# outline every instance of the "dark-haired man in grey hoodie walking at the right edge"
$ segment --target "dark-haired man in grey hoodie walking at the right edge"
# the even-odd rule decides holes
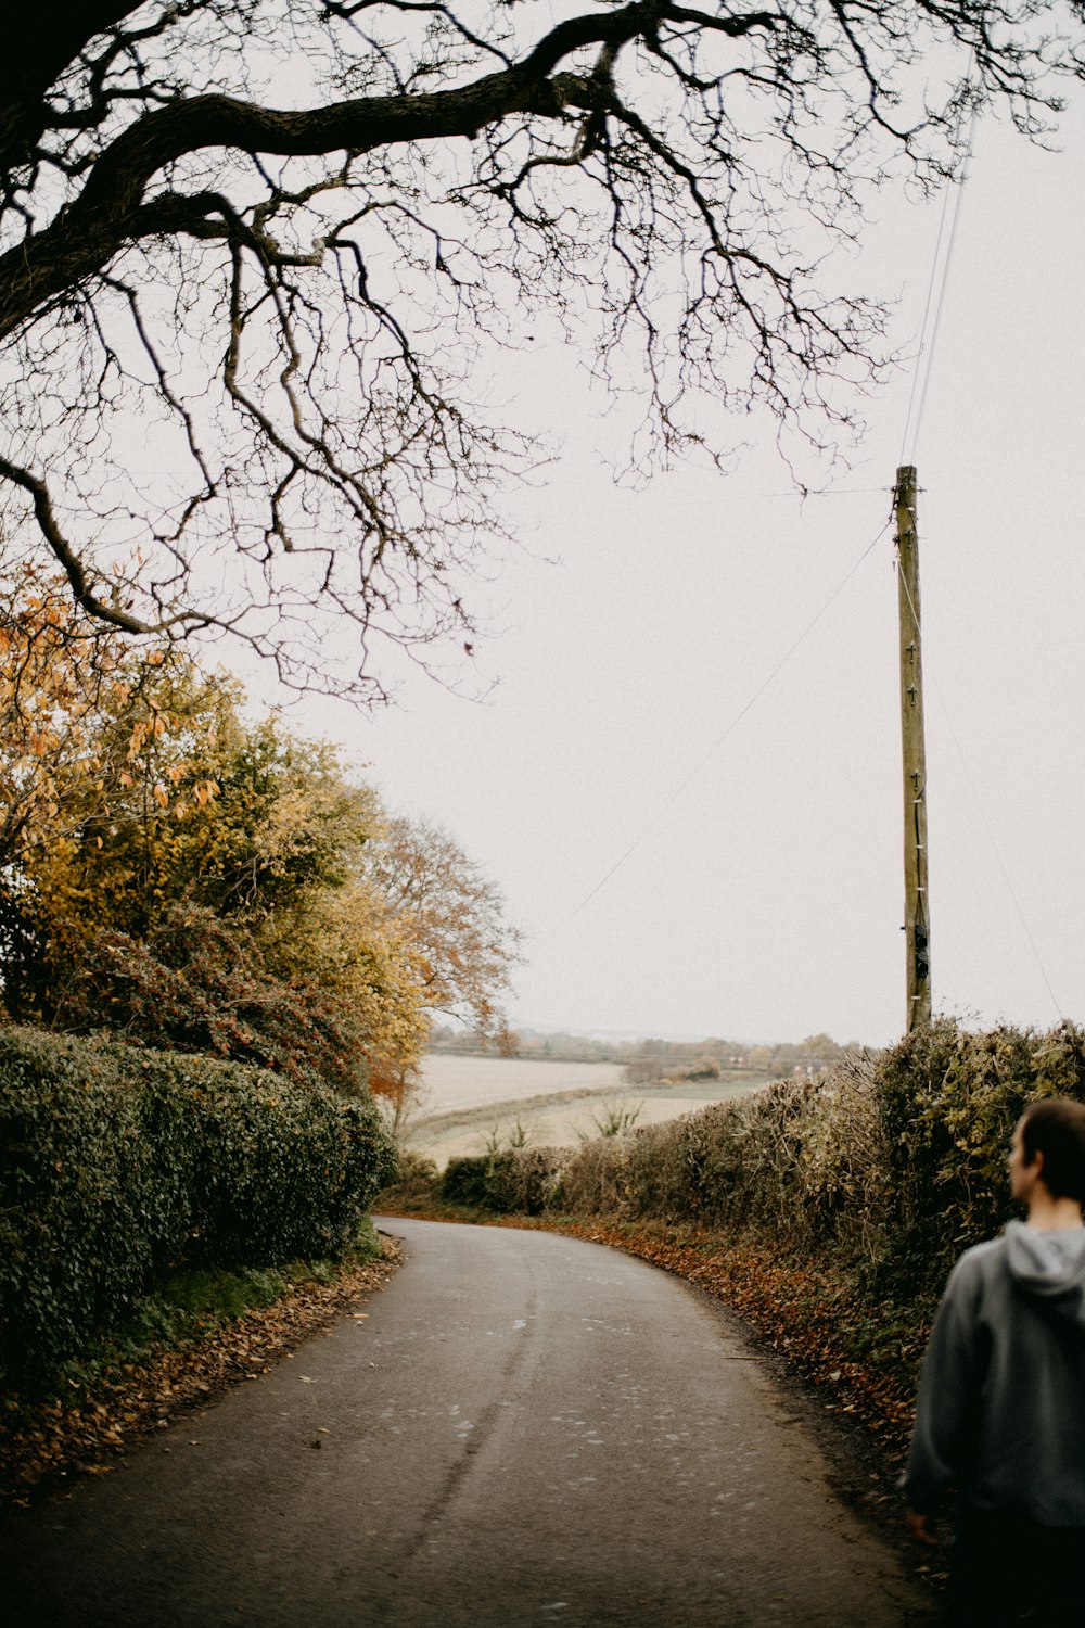
[[[922,1364],[909,1525],[958,1493],[953,1623],[1085,1623],[1085,1105],[1033,1102],[1010,1188],[1028,1219],[966,1250]]]

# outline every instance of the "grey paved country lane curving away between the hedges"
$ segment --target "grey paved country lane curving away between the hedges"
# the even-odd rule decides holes
[[[10,1628],[926,1620],[724,1309],[577,1239],[381,1224],[408,1258],[363,1315],[5,1522]]]

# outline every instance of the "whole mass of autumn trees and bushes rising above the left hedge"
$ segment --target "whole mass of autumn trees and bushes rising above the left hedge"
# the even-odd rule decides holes
[[[0,637],[8,1013],[210,1050],[402,1110],[428,1014],[486,1029],[516,934],[446,834],[335,749],[241,713],[177,648],[137,661],[24,581]]]

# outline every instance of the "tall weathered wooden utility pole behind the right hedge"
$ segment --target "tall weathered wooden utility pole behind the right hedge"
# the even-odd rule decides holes
[[[916,469],[896,470],[896,591],[901,630],[904,759],[904,941],[908,1032],[930,1022],[930,895],[927,892],[927,751],[922,729],[922,633]]]

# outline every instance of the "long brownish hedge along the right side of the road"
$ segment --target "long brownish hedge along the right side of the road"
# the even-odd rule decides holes
[[[537,1213],[512,1201],[522,1182],[551,1211],[695,1224],[843,1268],[870,1302],[927,1306],[961,1249],[1009,1218],[1013,1123],[1054,1092],[1085,1101],[1085,1031],[970,1034],[940,1019],[685,1118],[454,1161],[444,1197]]]

